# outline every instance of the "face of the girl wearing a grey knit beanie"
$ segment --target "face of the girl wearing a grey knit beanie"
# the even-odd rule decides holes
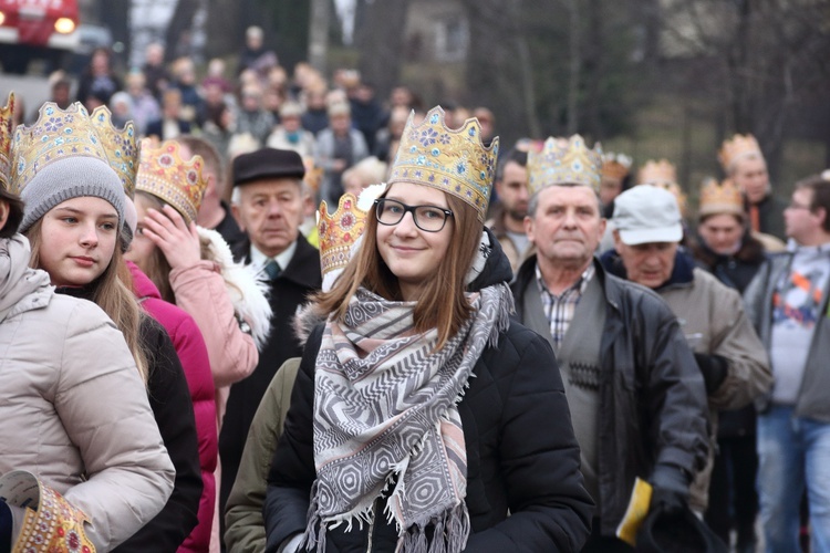
[[[118,213],[108,201],[83,196],[43,216],[40,268],[56,286],[84,286],[106,270],[118,239]]]

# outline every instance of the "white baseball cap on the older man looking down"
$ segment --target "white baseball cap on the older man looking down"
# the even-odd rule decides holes
[[[683,239],[677,200],[672,192],[656,186],[635,186],[618,196],[611,221],[620,232],[620,240],[627,246]]]

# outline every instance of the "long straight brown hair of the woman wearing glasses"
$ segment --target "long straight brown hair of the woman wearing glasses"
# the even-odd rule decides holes
[[[418,185],[423,186],[423,185]],[[384,194],[385,196],[385,194]],[[470,316],[471,307],[464,292],[465,276],[481,239],[481,222],[476,210],[464,200],[445,194],[453,217],[447,221],[453,237],[437,271],[424,283],[413,314],[415,330],[438,330],[440,348]],[[387,300],[401,301],[401,286],[377,249],[377,219],[374,207],[366,219],[363,244],[329,292],[314,296],[315,311],[342,321],[349,301],[361,285]]]

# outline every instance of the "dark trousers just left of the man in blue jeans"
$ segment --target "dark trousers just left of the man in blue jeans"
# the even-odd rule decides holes
[[[758,452],[755,435],[718,438],[718,455],[709,483],[709,508],[706,524],[729,543],[729,531],[738,533],[738,544],[755,541],[755,519],[758,515]]]

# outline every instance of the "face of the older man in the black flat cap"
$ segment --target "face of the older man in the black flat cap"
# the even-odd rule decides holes
[[[302,192],[295,178],[241,185],[234,215],[259,251],[272,258],[297,240],[302,221]]]

